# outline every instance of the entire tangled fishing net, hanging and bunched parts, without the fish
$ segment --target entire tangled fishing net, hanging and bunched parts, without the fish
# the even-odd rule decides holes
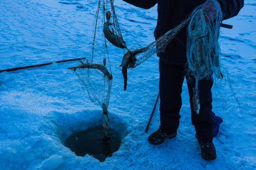
[[[216,7],[216,18],[207,22],[205,19],[205,4],[212,2]],[[110,60],[107,50],[107,41],[119,48],[128,50],[130,56],[127,59],[128,65],[122,66],[125,71],[127,68],[135,68],[150,56],[155,53],[165,52],[165,48],[171,42],[175,35],[186,25],[188,25],[188,39],[187,39],[187,71],[188,74],[195,77],[197,91],[198,81],[203,78],[212,78],[212,74],[221,77],[219,66],[219,26],[222,20],[222,14],[219,2],[216,0],[208,0],[195,8],[192,14],[187,17],[182,23],[174,29],[165,33],[165,35],[158,38],[155,42],[148,46],[136,49],[135,51],[128,50],[126,43],[123,40],[117,16],[115,13],[113,0],[99,0],[98,7],[94,19],[93,40],[91,45],[91,56],[83,63],[98,63],[104,65],[111,75]],[[108,43],[109,43],[108,42]],[[110,43],[108,45],[111,45]],[[124,56],[124,58],[125,58]],[[82,88],[86,89],[92,102],[97,101],[103,112],[107,112],[110,100],[110,90],[112,78],[106,76],[98,69],[77,68],[74,69],[76,75],[79,77]],[[127,72],[123,72],[124,78]],[[112,76],[111,76],[112,77]],[[127,77],[126,77],[127,79]]]

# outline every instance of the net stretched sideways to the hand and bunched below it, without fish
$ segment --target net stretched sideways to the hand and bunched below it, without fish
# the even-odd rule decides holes
[[[180,25],[175,26],[169,30],[165,35],[159,37],[155,42],[150,43],[148,46],[136,50],[136,63],[132,68],[143,63],[146,59],[155,53],[165,52],[165,48],[171,42],[175,35],[186,25],[188,26],[188,41],[187,41],[187,58],[188,69],[190,74],[195,75],[198,79],[211,75],[216,72],[218,77],[221,77],[219,69],[219,26],[222,20],[222,13],[219,2],[216,0],[208,0],[214,2],[217,14],[216,19],[212,22],[206,22],[204,19],[205,11],[203,5],[196,7],[191,15],[184,19]],[[196,35],[197,34],[197,35]],[[203,36],[203,34],[205,36]],[[196,37],[196,36],[200,37]],[[145,50],[146,49],[146,50]],[[203,58],[196,58],[194,56],[204,56]],[[216,67],[217,69],[215,69]],[[207,72],[205,72],[207,70]],[[210,70],[210,72],[209,72]],[[210,73],[210,74],[209,74]]]

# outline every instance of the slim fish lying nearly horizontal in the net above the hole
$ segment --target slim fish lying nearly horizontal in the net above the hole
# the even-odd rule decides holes
[[[82,61],[81,61],[82,62]],[[98,69],[100,70],[104,75],[108,76],[108,78],[111,80],[113,78],[113,76],[109,73],[108,69],[100,64],[100,63],[83,63],[79,66],[75,66],[75,67],[72,67],[72,68],[68,68],[68,69],[71,69],[75,72],[75,70],[77,68],[94,68],[94,69]]]

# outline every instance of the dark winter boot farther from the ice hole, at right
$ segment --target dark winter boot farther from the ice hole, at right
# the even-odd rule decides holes
[[[201,155],[202,158],[205,160],[215,160],[217,155],[216,155],[216,150],[214,147],[214,144],[212,140],[205,140],[205,139],[198,139],[198,143],[201,146]]]

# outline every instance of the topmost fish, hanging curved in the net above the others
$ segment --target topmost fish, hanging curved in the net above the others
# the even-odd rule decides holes
[[[127,48],[126,42],[123,40],[123,38],[116,35],[113,30],[112,31],[110,30],[109,26],[113,25],[112,23],[110,23],[110,16],[111,16],[111,13],[110,13],[110,11],[108,11],[106,13],[107,21],[104,23],[104,26],[103,26],[103,33],[104,33],[105,37],[114,46],[122,48],[122,49]]]

